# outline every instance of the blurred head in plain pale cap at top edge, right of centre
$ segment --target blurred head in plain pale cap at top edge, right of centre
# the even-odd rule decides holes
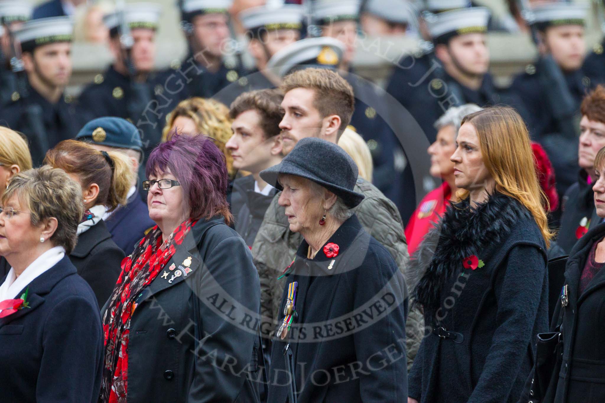
[[[404,35],[415,18],[409,0],[368,0],[361,10],[360,22],[370,36]]]

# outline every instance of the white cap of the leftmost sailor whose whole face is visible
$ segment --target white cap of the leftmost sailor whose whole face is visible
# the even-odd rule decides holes
[[[15,39],[21,43],[23,51],[54,42],[71,42],[73,22],[68,16],[32,19],[15,30]]]

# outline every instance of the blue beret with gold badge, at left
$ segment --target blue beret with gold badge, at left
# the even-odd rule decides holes
[[[143,152],[139,129],[128,120],[117,117],[91,120],[82,127],[76,140]]]

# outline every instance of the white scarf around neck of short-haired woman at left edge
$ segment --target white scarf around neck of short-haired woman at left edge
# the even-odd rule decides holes
[[[11,267],[4,283],[0,286],[0,301],[17,298],[22,289],[36,279],[36,277],[59,263],[59,260],[63,259],[64,256],[64,247],[50,248],[38,256],[38,259],[31,262],[19,277],[15,277],[15,269]]]

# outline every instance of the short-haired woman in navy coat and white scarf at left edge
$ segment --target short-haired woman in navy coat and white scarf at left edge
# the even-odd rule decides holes
[[[80,185],[44,166],[13,176],[0,200],[2,401],[96,402],[102,327],[93,290],[70,262]]]

